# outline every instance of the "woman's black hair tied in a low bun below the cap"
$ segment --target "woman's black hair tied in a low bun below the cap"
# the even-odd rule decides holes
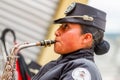
[[[109,51],[110,48],[109,43],[103,40],[104,37],[103,30],[89,25],[81,25],[81,26],[82,26],[83,34],[91,33],[93,35],[92,49],[97,55],[102,55]]]

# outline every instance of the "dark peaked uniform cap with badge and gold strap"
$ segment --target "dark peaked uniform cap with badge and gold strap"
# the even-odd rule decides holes
[[[57,23],[78,23],[90,25],[105,31],[106,13],[91,6],[72,3],[65,11],[65,17],[54,21]]]

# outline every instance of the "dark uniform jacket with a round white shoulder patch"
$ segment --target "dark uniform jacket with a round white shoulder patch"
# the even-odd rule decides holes
[[[85,71],[85,70],[86,71]],[[82,71],[83,70],[83,71]],[[81,73],[85,72],[85,74]],[[61,55],[40,69],[32,80],[102,80],[90,49]]]

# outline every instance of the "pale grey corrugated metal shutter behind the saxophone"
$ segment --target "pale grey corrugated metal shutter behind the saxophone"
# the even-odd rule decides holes
[[[13,29],[18,43],[44,40],[58,3],[58,0],[0,0],[0,32]],[[10,34],[6,39],[11,48]],[[26,59],[36,60],[39,52],[40,47],[33,47],[23,50],[22,54]]]

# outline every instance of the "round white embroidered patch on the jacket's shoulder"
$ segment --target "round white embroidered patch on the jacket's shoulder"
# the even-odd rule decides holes
[[[85,68],[75,68],[72,72],[74,80],[91,80],[90,72]]]

